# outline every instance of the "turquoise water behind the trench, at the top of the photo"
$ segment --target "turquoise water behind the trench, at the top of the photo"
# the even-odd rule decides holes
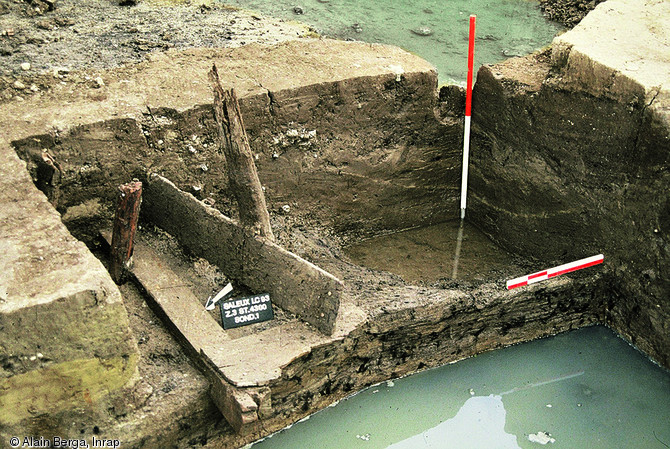
[[[442,83],[464,83],[468,18],[477,15],[475,67],[548,45],[562,26],[530,0],[224,0],[226,4],[294,19],[339,39],[393,44],[438,70]],[[296,14],[296,10],[302,14]],[[428,35],[426,35],[428,34]]]

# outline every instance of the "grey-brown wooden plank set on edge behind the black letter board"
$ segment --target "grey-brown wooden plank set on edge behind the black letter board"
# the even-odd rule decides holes
[[[252,236],[218,210],[150,175],[144,216],[172,234],[193,254],[217,265],[231,279],[331,335],[344,285],[330,273],[260,236]]]

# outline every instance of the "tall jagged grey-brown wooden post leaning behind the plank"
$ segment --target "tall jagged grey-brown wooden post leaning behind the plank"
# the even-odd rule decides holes
[[[258,180],[235,91],[223,89],[216,65],[212,65],[209,80],[214,89],[214,117],[219,129],[221,148],[226,156],[230,188],[240,209],[242,227],[274,241],[270,214]]]

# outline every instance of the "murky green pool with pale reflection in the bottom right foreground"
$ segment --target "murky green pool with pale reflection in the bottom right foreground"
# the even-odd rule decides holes
[[[372,386],[253,449],[662,448],[670,373],[594,326]]]

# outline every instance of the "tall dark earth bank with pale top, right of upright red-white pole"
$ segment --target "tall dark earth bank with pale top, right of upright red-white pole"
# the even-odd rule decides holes
[[[670,10],[644,6],[631,21],[638,4],[607,2],[550,52],[480,69],[472,215],[503,246],[547,262],[607,254],[608,323],[667,367],[670,23],[659,18]],[[660,53],[598,39],[626,27]]]

